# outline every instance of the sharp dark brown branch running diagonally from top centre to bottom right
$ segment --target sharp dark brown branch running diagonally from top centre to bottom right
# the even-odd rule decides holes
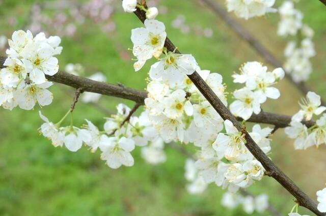
[[[137,9],[134,12],[135,15],[144,23],[146,19],[146,15],[144,11]],[[174,51],[175,53],[181,53],[178,49],[176,49],[175,45],[170,41],[169,38],[165,41],[165,47],[168,51]],[[231,112],[227,109],[227,107],[223,104],[223,102],[219,99],[218,96],[209,88],[209,86],[205,83],[202,77],[195,71],[193,74],[188,75],[188,77],[195,84],[197,89],[204,95],[207,101],[214,107],[216,112],[220,114],[220,116],[226,120],[230,120],[233,125],[241,131],[241,124],[237,121],[237,119],[231,114]],[[315,214],[324,216],[317,209],[317,204],[313,201],[307,194],[305,194],[295,183],[287,177],[274,163],[269,159],[269,157],[259,148],[259,146],[255,143],[255,141],[250,137],[247,131],[244,132],[244,138],[247,140],[246,147],[249,151],[255,156],[257,160],[263,165],[267,173],[270,173],[270,176],[277,180],[286,190],[292,194],[299,202],[299,204],[303,207],[308,208],[313,211]]]

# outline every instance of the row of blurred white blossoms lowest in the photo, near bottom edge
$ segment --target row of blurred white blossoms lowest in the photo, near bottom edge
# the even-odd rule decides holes
[[[242,196],[226,192],[223,194],[221,204],[229,209],[242,205],[243,211],[247,214],[252,214],[254,211],[262,213],[268,208],[268,196],[265,194],[257,197]]]

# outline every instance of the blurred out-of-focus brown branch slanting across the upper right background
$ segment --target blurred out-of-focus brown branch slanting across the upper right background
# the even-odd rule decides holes
[[[283,67],[282,63],[279,62],[273,54],[268,51],[253,35],[251,35],[246,29],[244,29],[237,21],[232,19],[228,12],[224,10],[224,8],[219,5],[214,0],[201,0],[202,2],[206,3],[210,9],[212,9],[217,15],[219,15],[227,25],[233,30],[241,39],[246,40],[265,60],[266,62],[270,63],[274,67]],[[326,1],[326,0],[320,0]],[[305,85],[305,83],[296,83],[292,79],[289,73],[285,74],[285,77],[303,94],[307,94],[309,91],[309,87]],[[325,105],[325,101],[321,101],[322,105]]]

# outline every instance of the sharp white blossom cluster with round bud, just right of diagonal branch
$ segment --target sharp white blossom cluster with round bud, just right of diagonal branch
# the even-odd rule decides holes
[[[240,68],[240,74],[234,74],[234,83],[245,83],[246,87],[233,92],[235,101],[230,104],[234,116],[248,120],[253,113],[259,114],[260,104],[268,98],[277,99],[280,91],[271,87],[284,77],[282,68],[268,72],[267,67],[259,62],[247,62]]]

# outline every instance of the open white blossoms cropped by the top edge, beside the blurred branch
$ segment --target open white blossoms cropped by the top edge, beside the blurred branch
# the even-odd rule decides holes
[[[226,0],[228,11],[244,19],[263,16],[268,12],[276,12],[273,7],[275,0]]]

